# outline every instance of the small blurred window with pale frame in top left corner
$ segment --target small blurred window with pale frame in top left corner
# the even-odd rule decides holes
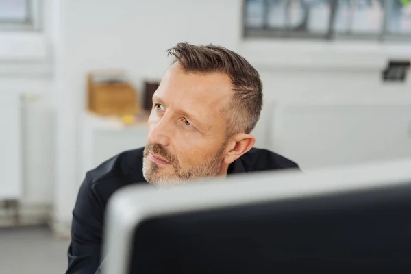
[[[0,30],[39,30],[39,1],[0,0]]]

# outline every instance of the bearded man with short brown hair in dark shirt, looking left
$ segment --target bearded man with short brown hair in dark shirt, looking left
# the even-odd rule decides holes
[[[104,212],[129,184],[181,184],[297,164],[253,149],[250,134],[262,108],[262,83],[240,55],[213,45],[179,43],[175,61],[153,95],[143,149],[123,152],[86,174],[73,210],[66,273],[95,273],[101,260]]]

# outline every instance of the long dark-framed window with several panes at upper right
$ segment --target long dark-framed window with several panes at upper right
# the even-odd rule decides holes
[[[246,37],[411,38],[411,0],[245,0]]]

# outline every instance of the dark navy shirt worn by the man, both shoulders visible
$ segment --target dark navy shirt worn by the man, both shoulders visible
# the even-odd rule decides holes
[[[147,184],[142,175],[144,148],[125,151],[88,171],[79,189],[66,274],[94,274],[101,263],[105,206],[110,196],[129,184]],[[298,169],[297,164],[266,149],[251,149],[229,165],[227,174]]]

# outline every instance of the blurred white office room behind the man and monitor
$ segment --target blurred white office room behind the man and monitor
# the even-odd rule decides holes
[[[145,145],[184,41],[258,69],[256,147],[304,171],[411,157],[411,1],[0,0],[1,273],[64,273],[85,172]]]

